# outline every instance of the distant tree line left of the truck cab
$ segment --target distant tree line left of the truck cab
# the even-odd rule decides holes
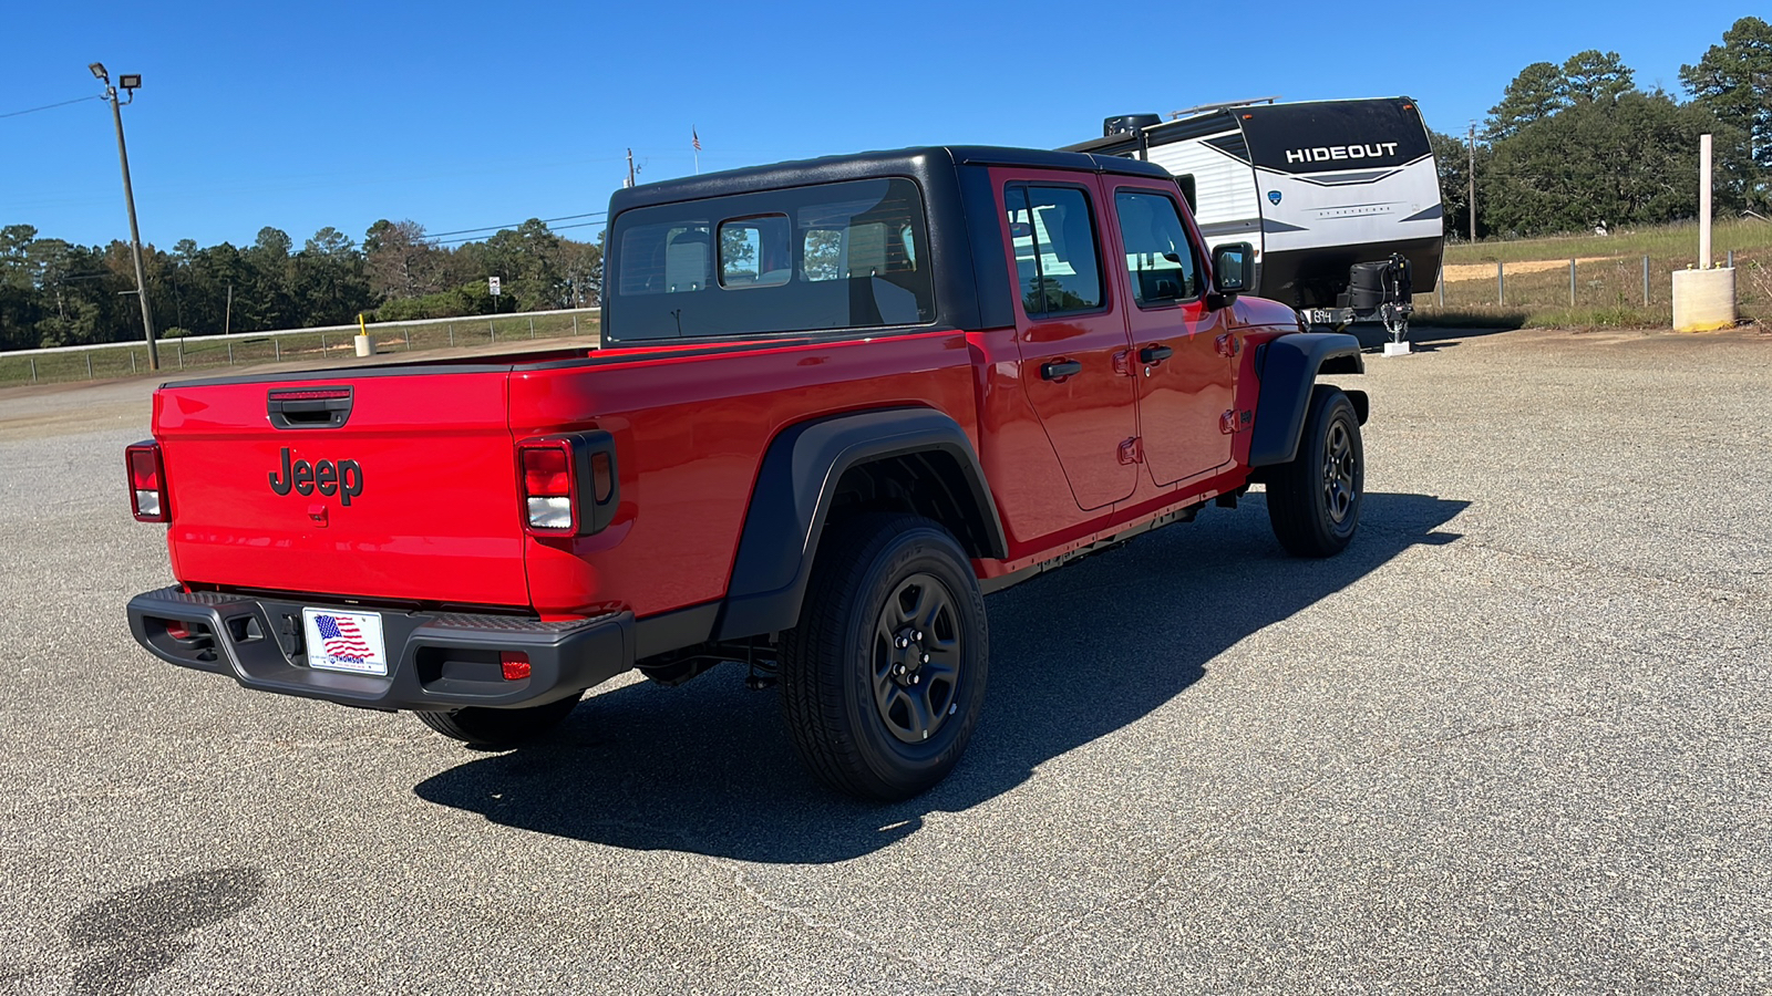
[[[457,246],[416,222],[376,222],[361,245],[326,227],[301,248],[266,227],[245,248],[147,245],[142,264],[167,337],[347,324],[358,314],[399,321],[594,307],[602,291],[601,239],[572,241],[535,218]],[[487,276],[501,278],[496,301]],[[82,246],[32,225],[0,227],[0,349],[140,337],[128,243]]]

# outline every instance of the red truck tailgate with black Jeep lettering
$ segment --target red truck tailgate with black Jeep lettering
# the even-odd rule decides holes
[[[177,576],[528,604],[507,381],[478,367],[161,388]]]

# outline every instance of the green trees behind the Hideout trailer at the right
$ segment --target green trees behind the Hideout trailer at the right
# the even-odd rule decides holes
[[[1698,216],[1712,135],[1717,211],[1772,214],[1772,25],[1742,18],[1690,66],[1685,101],[1636,85],[1616,51],[1520,69],[1476,133],[1476,237],[1526,237]],[[1473,149],[1432,133],[1446,232],[1471,234]]]

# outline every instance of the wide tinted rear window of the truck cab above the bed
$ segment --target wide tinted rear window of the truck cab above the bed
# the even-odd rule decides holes
[[[914,183],[833,183],[624,211],[611,342],[936,319]]]

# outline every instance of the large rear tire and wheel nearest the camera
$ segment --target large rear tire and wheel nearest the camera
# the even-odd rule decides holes
[[[851,796],[897,801],[930,789],[978,725],[989,642],[978,578],[948,530],[909,514],[826,530],[799,626],[781,634],[781,711],[796,753]]]

